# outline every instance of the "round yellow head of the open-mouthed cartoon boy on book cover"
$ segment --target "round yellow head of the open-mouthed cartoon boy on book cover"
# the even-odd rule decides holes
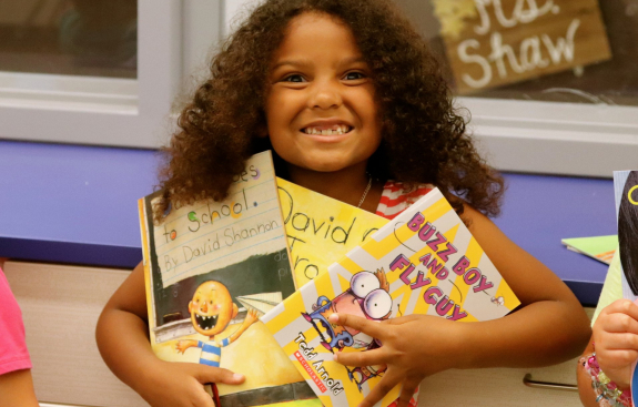
[[[223,332],[237,315],[239,308],[231,298],[225,285],[219,282],[204,282],[189,303],[189,313],[195,330],[214,336]]]

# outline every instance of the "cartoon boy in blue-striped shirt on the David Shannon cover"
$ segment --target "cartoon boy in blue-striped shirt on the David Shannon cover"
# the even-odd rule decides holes
[[[179,340],[176,350],[186,352],[190,347],[202,348],[200,364],[220,367],[222,347],[235,342],[252,324],[257,320],[257,313],[250,309],[242,326],[229,337],[217,340],[216,336],[223,333],[229,323],[237,315],[239,308],[231,297],[225,285],[220,282],[209,281],[200,284],[189,303],[189,313],[195,330],[209,336],[210,340],[194,339]]]

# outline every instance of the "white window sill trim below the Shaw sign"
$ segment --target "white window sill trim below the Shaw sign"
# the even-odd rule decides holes
[[[638,163],[638,108],[459,98],[502,171],[611,177]]]

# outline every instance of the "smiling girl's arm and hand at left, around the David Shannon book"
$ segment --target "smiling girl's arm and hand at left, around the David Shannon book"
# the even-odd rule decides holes
[[[213,407],[202,384],[240,384],[227,369],[159,359],[149,343],[144,267],[140,263],[104,306],[95,336],[102,358],[151,406]]]

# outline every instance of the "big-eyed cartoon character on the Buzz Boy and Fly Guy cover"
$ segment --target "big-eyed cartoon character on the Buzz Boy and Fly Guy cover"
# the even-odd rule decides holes
[[[332,301],[326,296],[318,297],[316,304],[313,304],[312,313],[302,313],[320,333],[322,345],[331,352],[334,348],[342,350],[346,346],[367,348],[375,339],[354,328],[328,323],[330,315],[352,314],[372,320],[383,320],[392,314],[389,284],[383,268],[376,273],[365,271],[356,273],[351,278],[350,285],[348,289]],[[328,338],[324,336],[320,325]]]

